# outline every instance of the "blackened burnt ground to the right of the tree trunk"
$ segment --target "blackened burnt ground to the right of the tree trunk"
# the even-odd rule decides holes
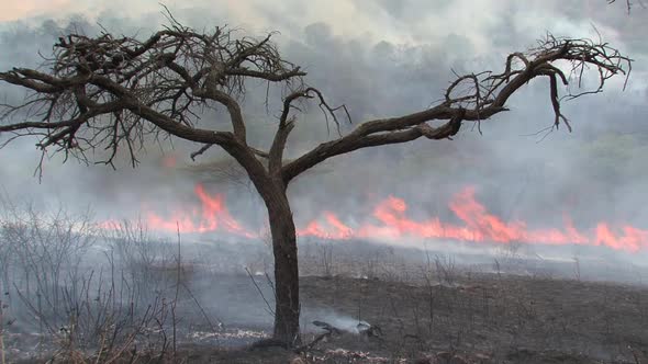
[[[345,349],[388,359],[446,352],[496,363],[648,360],[645,288],[496,274],[453,283],[311,277],[303,295],[306,307],[360,312],[379,326],[381,340],[350,340]]]

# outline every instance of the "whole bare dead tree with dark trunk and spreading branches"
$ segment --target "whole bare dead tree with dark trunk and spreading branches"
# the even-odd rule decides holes
[[[501,72],[457,77],[433,107],[364,122],[287,160],[287,141],[300,122],[298,102],[316,103],[338,127],[338,120],[349,114],[346,106],[331,106],[319,89],[306,86],[306,73],[283,59],[270,37],[237,38],[225,27],[200,33],[170,15],[169,26],[147,39],[69,34],[55,44],[45,67],[0,72],[0,80],[31,92],[19,104],[3,105],[0,133],[9,137],[5,143],[37,136],[43,152],[54,149],[66,157],[87,159],[90,151],[104,148],[109,153],[100,162],[108,164],[118,150],[124,150],[135,166],[150,137],[174,136],[201,145],[192,158],[212,146],[225,150],[245,169],[267,207],[277,289],[273,335],[291,345],[299,341],[300,316],[295,227],[287,197],[292,180],[328,158],[357,149],[421,137],[451,139],[466,123],[479,126],[506,111],[509,98],[536,78],[549,82],[552,125],[571,129],[561,100],[600,92],[606,80],[627,75],[630,66],[629,58],[605,43],[548,35],[535,48],[509,55]],[[561,96],[559,84],[580,79],[588,68],[597,71],[597,88]],[[248,79],[289,90],[268,150],[256,148],[246,137],[249,124],[239,96]],[[198,121],[203,107],[214,105],[226,109],[230,130],[214,130]]]

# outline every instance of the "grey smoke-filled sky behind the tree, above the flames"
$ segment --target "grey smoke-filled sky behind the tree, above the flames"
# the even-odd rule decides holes
[[[552,123],[554,115],[548,84],[537,80],[509,101],[510,112],[484,121],[479,129],[466,125],[455,140],[416,140],[326,161],[289,189],[298,225],[323,209],[348,221],[358,219],[370,215],[371,206],[388,195],[409,202],[413,217],[453,221],[447,202],[462,186],[476,185],[479,200],[504,219],[560,227],[562,213],[568,213],[583,229],[601,220],[648,228],[644,160],[648,46],[641,36],[648,33],[648,10],[637,5],[628,15],[621,3],[589,0],[567,4],[557,0],[348,0],[336,2],[336,9],[323,1],[216,3],[169,8],[199,30],[228,24],[241,29],[242,35],[279,31],[275,41],[287,59],[309,72],[306,82],[321,89],[331,104],[349,109],[353,123],[340,115],[343,133],[365,120],[434,105],[454,72],[501,70],[509,53],[534,46],[547,32],[600,35],[635,59],[625,91],[619,78],[601,94],[563,104],[573,133],[565,128],[546,137],[538,133]],[[157,3],[134,1],[133,9],[130,14],[108,7],[96,13],[45,13],[0,23],[0,68],[37,66],[37,53],[48,54],[56,37],[70,30],[145,37],[165,22]],[[585,86],[592,82],[595,79],[585,79]],[[243,101],[252,125],[249,139],[260,147],[271,140],[279,112],[281,90],[271,91],[268,110],[262,86],[250,84]],[[20,100],[24,91],[0,84],[0,94],[3,100]],[[288,146],[289,158],[336,136],[316,105],[304,111]],[[211,125],[228,127],[217,122],[223,114],[206,116],[216,121]],[[118,171],[77,161],[62,166],[56,157],[46,162],[38,183],[32,174],[40,158],[34,145],[34,139],[21,139],[0,150],[5,194],[91,205],[100,214],[121,217],[136,213],[142,201],[163,202],[163,206],[182,201],[197,180],[209,180],[204,172],[191,169],[195,163],[189,152],[197,147],[174,140],[164,150],[155,145],[147,148],[137,169],[126,161],[119,163]],[[177,169],[160,168],[165,155],[177,158]],[[226,159],[214,148],[199,162]],[[262,224],[265,213],[254,192],[241,184],[212,182],[212,191],[228,193],[233,215]]]

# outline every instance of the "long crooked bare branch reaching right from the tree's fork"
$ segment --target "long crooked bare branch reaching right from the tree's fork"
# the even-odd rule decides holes
[[[522,61],[522,68],[514,68],[514,59]],[[585,67],[595,67],[599,70],[600,80],[596,90],[601,90],[605,81],[613,76],[622,73],[627,77],[632,69],[632,60],[605,43],[593,43],[590,39],[556,38],[549,34],[527,54],[511,54],[506,58],[502,73],[487,71],[458,76],[446,91],[445,101],[432,109],[400,117],[365,122],[350,134],[319,145],[283,166],[284,183],[331,157],[351,150],[405,143],[422,136],[429,139],[451,138],[459,130],[461,121],[480,123],[506,111],[505,103],[509,98],[538,76],[549,78],[549,99],[556,116],[554,125],[558,126],[562,122],[571,132],[571,125],[560,112],[557,87],[558,78],[563,84],[568,84],[569,79],[560,68],[552,65],[558,60],[569,61],[572,66],[571,72],[577,77],[582,75]],[[465,82],[470,82],[470,88],[468,91],[459,93],[457,90]],[[591,91],[572,96],[586,93],[591,93]],[[287,112],[286,106],[283,111]],[[439,120],[448,120],[449,122],[436,128],[427,124],[427,122]]]

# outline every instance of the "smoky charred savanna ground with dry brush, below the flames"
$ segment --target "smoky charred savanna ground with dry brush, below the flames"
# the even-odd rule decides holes
[[[625,270],[626,283],[614,283],[597,277],[610,277],[610,268],[618,264],[541,261],[516,249],[443,255],[364,242],[310,242],[301,249],[304,346],[293,351],[271,341],[259,344],[271,332],[273,307],[272,282],[265,273],[271,272],[271,259],[262,244],[185,243],[181,261],[172,258],[172,242],[133,246],[146,249],[119,258],[124,244],[94,247],[102,252],[96,255],[111,257],[111,263],[79,265],[79,284],[62,278],[58,285],[66,288],[49,292],[64,296],[57,309],[46,304],[53,298],[43,298],[46,282],[23,287],[33,277],[14,274],[22,280],[12,286],[11,305],[7,298],[3,304],[3,361],[648,361],[648,288],[639,268]],[[152,250],[161,253],[144,254]],[[40,295],[29,294],[34,285],[43,286],[35,291]]]

